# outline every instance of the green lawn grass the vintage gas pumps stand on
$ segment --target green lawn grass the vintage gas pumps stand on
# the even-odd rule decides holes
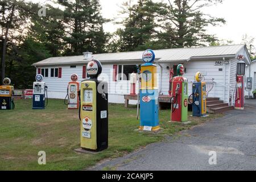
[[[79,154],[78,110],[67,110],[63,100],[49,100],[45,110],[32,110],[31,100],[15,101],[15,110],[0,110],[0,170],[81,170],[105,158],[116,158],[147,144],[163,140],[208,118],[192,118],[189,125],[170,123],[170,110],[159,113],[159,133],[137,131],[136,107],[109,104],[109,148],[97,154]],[[190,115],[191,113],[189,113]],[[46,165],[38,152],[46,152]]]

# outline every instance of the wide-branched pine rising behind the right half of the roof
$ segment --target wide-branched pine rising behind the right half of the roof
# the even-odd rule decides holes
[[[163,48],[180,48],[205,46],[212,41],[206,27],[225,23],[223,18],[215,18],[204,14],[202,9],[221,0],[168,0],[159,3],[159,27],[163,31],[158,34],[158,43]]]

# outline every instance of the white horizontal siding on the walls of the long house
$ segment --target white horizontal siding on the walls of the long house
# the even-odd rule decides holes
[[[226,85],[229,85],[229,78],[230,78],[230,85],[234,86],[236,84],[236,67],[235,67],[234,60],[230,61],[228,65],[226,65]],[[214,81],[217,84],[214,86],[213,90],[209,92],[209,97],[219,97],[221,100],[225,100],[225,102],[229,101],[229,88],[228,86],[225,88],[223,85],[224,82],[224,71],[225,66],[215,66],[215,61],[189,61],[184,63],[184,67],[187,68],[187,72],[185,73],[185,77],[188,78],[188,93],[192,93],[192,82],[194,81],[195,73],[200,71],[204,74],[205,81]],[[131,63],[133,64],[133,63]],[[179,63],[176,63],[179,64]],[[163,75],[162,75],[162,86],[158,85],[160,94],[168,95],[169,90],[169,70],[167,67],[172,67],[174,63],[160,63],[163,68]],[[113,64],[102,64],[102,74],[99,77],[99,80],[108,80],[109,82],[109,102],[112,103],[124,103],[123,95],[130,93],[130,82],[127,80],[123,81],[113,81]],[[229,69],[229,67],[231,69]],[[59,67],[39,67],[39,68],[48,68],[49,69],[49,76],[51,76],[50,71],[51,68],[59,68]],[[62,68],[62,77],[48,77],[44,78],[48,86],[48,97],[49,98],[61,98],[64,99],[67,94],[67,85],[68,82],[71,81],[70,76],[72,73],[76,73],[79,76],[79,82],[82,79],[82,65],[77,65],[76,68],[70,68],[69,66],[60,66]],[[222,68],[222,71],[218,69]],[[160,84],[160,72],[161,68],[158,65],[158,83]],[[229,70],[231,71],[229,73]],[[256,72],[256,71],[255,71]],[[230,76],[229,76],[230,74]],[[235,75],[234,75],[235,74]],[[226,94],[224,97],[224,88],[226,90]],[[130,101],[130,104],[136,104],[137,101]]]

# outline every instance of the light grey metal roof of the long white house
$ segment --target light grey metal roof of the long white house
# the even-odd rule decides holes
[[[160,49],[155,50],[156,61],[189,61],[193,57],[236,57],[238,52],[246,49],[245,45],[232,45],[232,46],[211,46],[211,47],[198,47],[198,48],[175,48],[175,49]],[[117,52],[117,53],[101,53],[92,55],[94,59],[100,60],[102,63],[117,63],[126,61],[141,61],[142,53],[144,51],[133,52]],[[246,51],[247,52],[247,51]],[[63,65],[63,64],[84,64],[89,60],[85,60],[81,56],[63,56],[63,57],[50,57],[46,60],[34,63],[34,66],[43,65]],[[250,61],[249,61],[250,63]]]

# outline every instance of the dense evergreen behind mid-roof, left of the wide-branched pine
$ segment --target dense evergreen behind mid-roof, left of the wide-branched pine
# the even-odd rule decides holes
[[[151,0],[138,0],[132,5],[132,1],[123,3],[122,14],[127,14],[122,22],[125,28],[119,28],[115,36],[119,41],[112,46],[118,47],[117,51],[136,51],[148,48],[147,43],[154,39],[156,34],[155,14],[156,4]]]

